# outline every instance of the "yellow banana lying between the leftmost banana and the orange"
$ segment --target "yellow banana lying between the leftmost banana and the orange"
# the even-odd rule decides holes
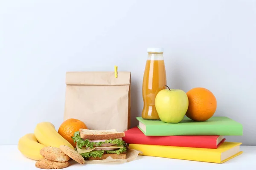
[[[34,133],[38,142],[45,146],[60,147],[60,145],[64,144],[75,150],[72,144],[64,139],[50,122],[38,123],[35,127]]]

